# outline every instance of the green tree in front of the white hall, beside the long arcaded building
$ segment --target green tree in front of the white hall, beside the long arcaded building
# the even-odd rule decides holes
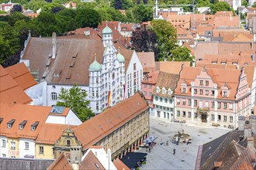
[[[77,85],[74,85],[69,90],[61,87],[57,106],[70,107],[71,110],[77,114],[78,118],[84,122],[94,116],[89,107],[90,101],[86,100],[86,97],[86,91],[82,91]]]

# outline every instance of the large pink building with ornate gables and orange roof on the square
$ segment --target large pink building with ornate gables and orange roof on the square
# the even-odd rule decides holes
[[[237,128],[251,114],[251,88],[241,70],[184,67],[175,88],[175,119]]]

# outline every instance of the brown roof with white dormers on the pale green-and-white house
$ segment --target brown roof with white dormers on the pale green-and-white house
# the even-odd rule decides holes
[[[171,93],[171,96],[168,95],[168,89],[171,89],[172,92],[175,90],[175,87],[178,83],[178,78],[179,78],[178,74],[159,72],[157,76],[157,83],[154,86],[153,94],[157,96],[163,96],[163,97],[168,97],[168,96],[172,97],[172,93]],[[161,90],[160,93],[157,93],[157,87],[160,88]],[[165,93],[162,93],[163,87],[166,90]]]

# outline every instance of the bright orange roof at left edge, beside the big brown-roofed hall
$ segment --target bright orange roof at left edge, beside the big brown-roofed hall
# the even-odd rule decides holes
[[[22,90],[36,85],[36,81],[33,79],[33,76],[29,73],[24,63],[17,63],[16,65],[5,68],[5,70],[12,76],[13,80],[22,87]]]

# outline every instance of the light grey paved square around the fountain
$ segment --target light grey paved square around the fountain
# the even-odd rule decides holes
[[[179,145],[171,143],[170,137],[175,131],[181,131],[192,135],[192,144],[185,145],[180,142]],[[212,141],[226,134],[230,129],[216,128],[212,126],[202,126],[199,124],[178,124],[161,121],[155,117],[150,117],[150,135],[157,136],[157,144],[151,152],[146,152],[145,148],[140,148],[140,152],[147,153],[147,163],[140,169],[195,169],[195,159],[199,145]],[[169,145],[165,145],[169,141]],[[164,142],[163,145],[160,145]],[[173,155],[173,148],[176,154]]]

